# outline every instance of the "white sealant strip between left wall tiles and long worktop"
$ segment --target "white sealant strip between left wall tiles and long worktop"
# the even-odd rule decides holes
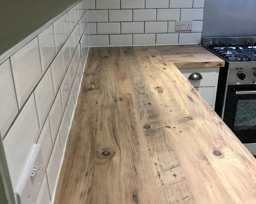
[[[59,166],[59,170],[58,170],[58,174],[57,174],[57,179],[55,180],[55,185],[54,185],[54,188],[53,188],[53,196],[51,198],[51,204],[54,204],[54,200],[55,200],[55,193],[56,193],[56,189],[57,189],[57,186],[58,186],[60,171],[62,169],[62,164],[63,164],[64,158],[65,158],[65,153],[66,153],[66,144],[68,142],[69,131],[71,129],[72,122],[73,122],[74,115],[75,115],[76,106],[78,104],[78,97],[79,97],[79,93],[80,93],[80,89],[81,89],[81,85],[82,85],[82,81],[83,81],[82,79],[84,77],[84,71],[85,71],[85,66],[86,66],[89,51],[90,51],[90,47],[88,49],[88,52],[87,52],[87,55],[86,55],[86,60],[85,60],[85,63],[84,63],[84,68],[82,70],[82,77],[81,77],[81,81],[80,81],[80,84],[79,84],[78,96],[76,97],[76,104],[75,104],[75,108],[74,108],[74,111],[73,111],[72,116],[71,116],[71,120],[70,120],[71,122],[69,124],[68,135],[66,137],[66,141],[65,141],[64,148],[63,148],[63,151],[62,151],[62,159],[60,161],[60,166]],[[78,67],[78,69],[79,69],[79,67]]]

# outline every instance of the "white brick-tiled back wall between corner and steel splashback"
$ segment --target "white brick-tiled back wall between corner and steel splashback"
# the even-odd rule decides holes
[[[198,44],[204,0],[88,0],[90,46]],[[176,20],[193,21],[175,31]]]

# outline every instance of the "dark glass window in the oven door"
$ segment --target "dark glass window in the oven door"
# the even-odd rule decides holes
[[[256,100],[238,100],[234,131],[256,127]]]

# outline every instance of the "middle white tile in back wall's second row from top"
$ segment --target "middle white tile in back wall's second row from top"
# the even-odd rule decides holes
[[[156,21],[156,9],[134,9],[133,21]]]

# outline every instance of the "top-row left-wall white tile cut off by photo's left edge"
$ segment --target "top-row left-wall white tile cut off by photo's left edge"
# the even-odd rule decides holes
[[[0,65],[0,133],[4,137],[18,113],[10,60]]]

